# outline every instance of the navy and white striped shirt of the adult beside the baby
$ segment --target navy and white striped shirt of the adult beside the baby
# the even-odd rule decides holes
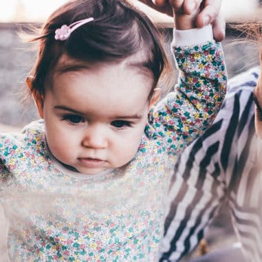
[[[253,67],[230,80],[215,122],[179,157],[160,261],[179,261],[195,248],[223,201],[247,261],[262,261],[262,142],[254,131],[252,98],[258,76]]]

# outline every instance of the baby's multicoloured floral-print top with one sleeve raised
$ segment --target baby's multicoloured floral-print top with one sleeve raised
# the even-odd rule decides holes
[[[0,136],[0,199],[10,261],[157,261],[176,155],[212,123],[226,92],[221,45],[174,47],[175,90],[149,112],[133,160],[72,175],[45,143],[43,120]]]

